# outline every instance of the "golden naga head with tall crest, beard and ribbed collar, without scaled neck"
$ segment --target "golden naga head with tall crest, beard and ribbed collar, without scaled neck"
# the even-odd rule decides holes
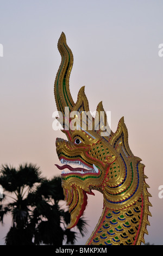
[[[128,145],[128,132],[123,117],[116,132],[112,132],[106,120],[106,112],[100,102],[93,117],[84,87],[79,90],[77,102],[70,94],[69,78],[73,55],[66,44],[65,34],[58,41],[61,64],[55,78],[54,95],[67,141],[57,138],[57,154],[62,166],[62,188],[71,213],[74,227],[83,215],[87,193],[92,190],[103,193],[104,205],[120,210],[133,205],[143,190],[144,165],[135,157]]]

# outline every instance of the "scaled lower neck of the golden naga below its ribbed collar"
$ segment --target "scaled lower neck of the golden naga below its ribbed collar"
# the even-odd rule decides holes
[[[104,205],[102,216],[86,245],[136,245],[143,223],[143,199],[129,208],[111,210]]]

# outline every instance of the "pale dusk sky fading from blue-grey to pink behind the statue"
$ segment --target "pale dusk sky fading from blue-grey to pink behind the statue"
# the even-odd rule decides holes
[[[52,129],[52,113],[63,31],[74,56],[73,100],[84,85],[91,111],[101,100],[111,111],[114,132],[124,116],[130,149],[146,165],[153,207],[145,240],[155,245],[163,244],[162,10],[161,0],[0,0],[0,164],[32,162],[47,178],[60,174],[55,138],[65,136]],[[89,231],[78,244],[90,236],[102,206],[101,194],[89,196]],[[7,218],[0,226],[1,244],[9,227]]]

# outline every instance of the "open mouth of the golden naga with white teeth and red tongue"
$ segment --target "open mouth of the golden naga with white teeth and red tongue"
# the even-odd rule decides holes
[[[61,175],[67,175],[67,174],[72,174],[72,173],[76,173],[76,174],[80,174],[80,175],[85,175],[85,174],[97,175],[97,174],[99,174],[99,170],[95,166],[95,164],[93,164],[92,166],[88,166],[81,160],[75,160],[75,161],[71,160],[70,161],[70,160],[67,160],[64,158],[61,158],[60,162],[64,163],[64,165],[59,166],[58,164],[55,164],[55,166],[57,166],[58,169],[62,170]],[[76,167],[73,168],[69,164],[75,164]]]

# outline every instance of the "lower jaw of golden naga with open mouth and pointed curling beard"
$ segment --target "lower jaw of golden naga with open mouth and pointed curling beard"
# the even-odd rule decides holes
[[[65,156],[59,159],[63,165],[55,165],[61,170],[62,188],[71,214],[71,222],[67,228],[73,228],[83,215],[87,205],[87,193],[95,195],[90,187],[95,186],[97,180],[101,180],[102,173],[96,164],[86,163],[79,156],[75,160]]]

